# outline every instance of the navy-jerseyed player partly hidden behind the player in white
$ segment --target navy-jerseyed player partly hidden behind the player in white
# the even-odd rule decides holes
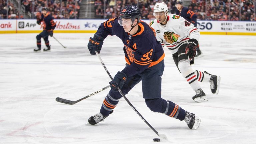
[[[193,11],[189,10],[186,7],[183,7],[181,0],[175,1],[175,7],[176,7],[176,14],[182,16],[185,20],[192,23],[195,27],[197,27],[197,15]],[[196,56],[203,56],[201,50],[199,49],[199,45],[196,48]]]

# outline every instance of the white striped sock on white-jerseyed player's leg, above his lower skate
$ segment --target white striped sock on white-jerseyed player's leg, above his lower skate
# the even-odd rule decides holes
[[[183,73],[181,73],[182,76],[187,80],[188,84],[191,86],[191,88],[196,91],[198,89],[201,88],[198,80],[197,80],[197,77],[196,77],[196,74],[195,72],[192,70],[192,68],[190,70],[187,70]]]

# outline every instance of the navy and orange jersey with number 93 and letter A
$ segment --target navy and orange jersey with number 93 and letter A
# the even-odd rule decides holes
[[[96,32],[103,38],[116,35],[123,41],[125,60],[129,66],[122,72],[128,77],[158,64],[165,56],[161,44],[156,40],[155,30],[143,21],[138,26],[140,31],[130,35],[119,25],[118,18],[113,18],[102,23]]]

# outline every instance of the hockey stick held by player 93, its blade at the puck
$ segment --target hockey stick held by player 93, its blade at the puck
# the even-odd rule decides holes
[[[104,67],[105,71],[107,72],[108,76],[110,77],[111,80],[113,80],[112,76],[110,75],[107,67],[105,66],[104,62],[102,61],[99,53],[96,51],[96,54],[98,56],[98,58],[100,59],[100,62],[102,64],[102,66]],[[139,117],[151,128],[151,130],[153,130],[155,132],[156,135],[158,135],[160,138],[163,138],[165,140],[167,139],[167,136],[164,134],[159,134],[147,121],[146,119],[144,119],[144,117],[135,109],[135,107],[132,105],[132,103],[126,98],[126,96],[123,94],[123,92],[121,91],[121,89],[119,87],[117,87],[118,92],[122,95],[122,97],[125,99],[125,101],[132,107],[132,109],[139,115]]]

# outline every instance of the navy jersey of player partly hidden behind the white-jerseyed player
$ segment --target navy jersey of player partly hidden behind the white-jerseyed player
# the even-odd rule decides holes
[[[182,16],[185,20],[187,20],[190,23],[192,23],[193,25],[195,25],[195,27],[197,26],[197,22],[196,22],[197,15],[196,15],[196,13],[189,10],[188,8],[183,7],[181,9],[181,12],[176,9],[176,14]]]

